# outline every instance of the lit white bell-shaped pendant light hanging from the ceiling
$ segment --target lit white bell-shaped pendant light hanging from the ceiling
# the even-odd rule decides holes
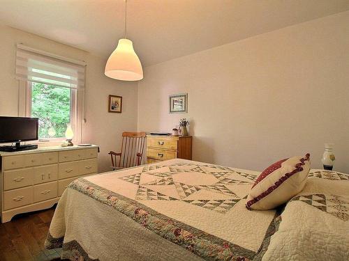
[[[142,64],[133,49],[133,42],[126,38],[126,22],[127,0],[125,0],[125,38],[119,40],[117,49],[108,58],[104,74],[121,81],[139,81],[143,79]]]

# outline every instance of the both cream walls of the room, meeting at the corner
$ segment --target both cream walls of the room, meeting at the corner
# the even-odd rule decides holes
[[[121,132],[137,123],[170,131],[186,117],[195,160],[262,170],[311,152],[318,168],[323,143],[332,141],[335,169],[348,173],[348,32],[349,12],[297,24],[144,68],[137,88],[105,77],[102,58],[0,25],[0,115],[17,115],[22,42],[87,62],[83,142],[101,146],[99,171],[110,169],[107,151],[119,148]],[[188,114],[168,114],[172,93],[188,93]],[[123,113],[107,113],[109,94],[123,96]]]

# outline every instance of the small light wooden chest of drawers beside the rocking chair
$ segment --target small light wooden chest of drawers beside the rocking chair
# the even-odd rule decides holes
[[[191,159],[192,136],[147,136],[147,163]]]

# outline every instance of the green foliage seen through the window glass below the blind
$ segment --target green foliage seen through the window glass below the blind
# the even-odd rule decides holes
[[[54,132],[52,137],[64,137],[70,122],[70,89],[33,83],[31,117],[39,118],[40,139],[51,137]]]

